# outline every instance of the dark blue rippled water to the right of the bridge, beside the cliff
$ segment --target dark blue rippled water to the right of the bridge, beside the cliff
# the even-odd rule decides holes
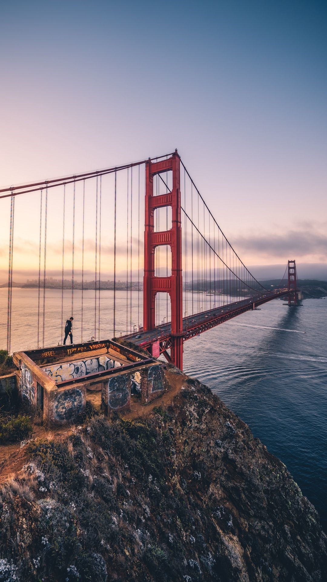
[[[184,371],[207,384],[286,464],[325,531],[326,322],[327,299],[307,299],[303,307],[275,299],[184,346]]]

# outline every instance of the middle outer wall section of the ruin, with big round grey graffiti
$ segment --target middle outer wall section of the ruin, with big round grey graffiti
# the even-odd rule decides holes
[[[106,414],[129,410],[131,374],[119,372],[102,384],[102,407]]]

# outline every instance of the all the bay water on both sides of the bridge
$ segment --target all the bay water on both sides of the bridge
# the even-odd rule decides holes
[[[116,300],[116,335],[142,321],[141,296]],[[140,301],[139,301],[140,299]],[[194,298],[193,298],[194,299]],[[204,300],[201,296],[200,303]],[[0,349],[6,347],[7,292],[0,289]],[[207,298],[207,301],[215,299]],[[42,307],[42,296],[41,296]],[[194,306],[197,306],[197,298]],[[201,303],[202,304],[202,303]],[[84,292],[83,340],[98,336],[94,291]],[[37,347],[36,289],[13,289],[11,351]],[[100,338],[113,335],[113,292],[101,292]],[[126,307],[128,315],[126,317]],[[190,310],[191,297],[187,307]],[[209,307],[209,306],[207,306]],[[61,291],[46,292],[44,345],[61,338]],[[159,303],[159,321],[166,299]],[[190,315],[190,311],[188,314]],[[63,297],[63,320],[71,295]],[[81,340],[80,292],[74,294],[74,342]],[[168,314],[169,315],[169,314]],[[202,333],[184,344],[184,371],[207,384],[251,428],[255,437],[286,464],[304,495],[314,503],[327,531],[327,299],[287,307],[273,300],[260,310]],[[97,331],[95,332],[95,328]],[[42,345],[43,321],[39,321]]]

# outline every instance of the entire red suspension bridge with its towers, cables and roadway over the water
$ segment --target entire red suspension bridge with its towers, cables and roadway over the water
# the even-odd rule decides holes
[[[15,318],[12,309],[14,242],[17,236],[15,200],[23,196],[29,197],[27,200],[39,217],[40,227],[37,313],[33,321],[38,348],[45,347],[48,212],[51,200],[52,205],[55,201],[56,233],[59,230],[62,232],[62,243],[56,244],[57,254],[60,252],[62,255],[61,336],[65,319],[63,294],[67,261],[71,269],[72,315],[77,300],[77,272],[81,276],[81,342],[83,333],[85,335],[85,258],[86,247],[90,243],[90,236],[87,239],[86,233],[90,233],[91,228],[94,244],[94,338],[101,339],[101,333],[108,336],[109,331],[102,328],[101,322],[101,273],[104,269],[108,272],[108,265],[104,262],[104,238],[107,255],[109,248],[113,262],[113,336],[120,327],[120,335],[143,347],[152,356],[163,354],[181,370],[183,345],[187,339],[276,297],[287,296],[289,305],[297,305],[295,261],[287,261],[285,273],[275,289],[265,289],[229,243],[175,150],[163,156],[100,171],[0,189],[2,221],[5,221],[7,211],[9,223],[6,329],[9,353],[12,320]],[[89,208],[93,201],[95,212],[91,219]],[[60,219],[58,215],[61,215]],[[143,216],[144,238],[141,234]],[[77,236],[81,239],[79,268],[76,264]],[[126,267],[126,326],[124,324],[122,331],[121,322],[119,325],[117,322],[117,298],[118,272],[121,273],[123,263]],[[133,293],[137,294],[137,309],[132,308]]]

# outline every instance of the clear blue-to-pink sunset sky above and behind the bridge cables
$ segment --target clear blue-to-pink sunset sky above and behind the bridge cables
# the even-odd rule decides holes
[[[301,278],[327,278],[326,2],[2,0],[0,51],[0,186],[177,148],[254,275],[282,276],[296,258]],[[87,196],[93,221],[94,185]],[[53,194],[53,275],[61,204]],[[39,205],[16,200],[14,280],[15,269],[16,278],[37,271]],[[0,211],[5,280],[8,201]],[[90,277],[92,261],[90,251]]]

